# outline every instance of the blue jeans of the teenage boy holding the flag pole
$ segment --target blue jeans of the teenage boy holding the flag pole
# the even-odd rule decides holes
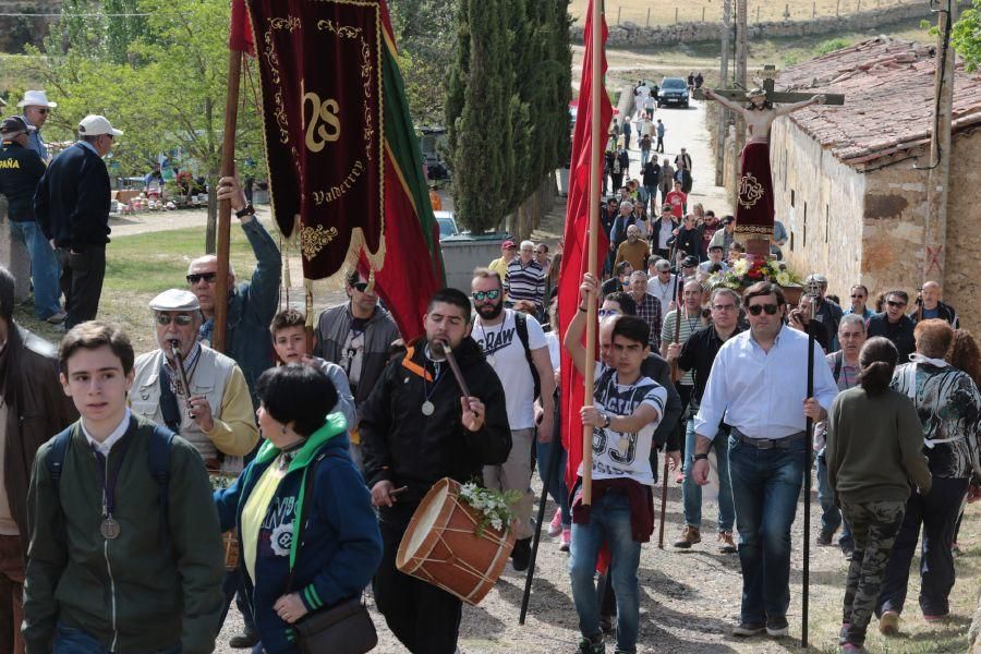
[[[641,544],[630,529],[630,504],[622,493],[607,493],[593,501],[589,524],[572,523],[572,601],[579,614],[579,631],[586,638],[600,633],[600,604],[596,595],[596,559],[603,543],[609,544],[610,570],[617,595],[617,651],[637,652],[640,623],[640,592],[637,569]]]

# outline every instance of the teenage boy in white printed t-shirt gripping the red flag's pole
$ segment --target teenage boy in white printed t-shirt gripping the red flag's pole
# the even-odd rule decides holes
[[[600,283],[590,274],[580,287],[582,304],[569,324],[564,346],[572,363],[585,370],[582,335],[586,302],[596,302]],[[593,427],[592,505],[580,499],[572,509],[572,600],[579,614],[580,652],[605,651],[600,628],[600,606],[594,573],[600,548],[609,546],[613,586],[617,595],[617,651],[635,652],[640,622],[637,570],[641,543],[654,532],[654,484],[651,441],[661,422],[667,391],[641,374],[650,353],[650,326],[635,316],[623,316],[614,326],[613,363],[597,362],[594,405],[580,414]],[[582,465],[579,467],[580,477]]]

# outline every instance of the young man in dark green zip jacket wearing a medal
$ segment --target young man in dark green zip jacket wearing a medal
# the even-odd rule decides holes
[[[28,654],[215,647],[223,561],[207,473],[194,447],[128,409],[133,359],[105,323],[61,342],[61,384],[82,419],[34,462]]]

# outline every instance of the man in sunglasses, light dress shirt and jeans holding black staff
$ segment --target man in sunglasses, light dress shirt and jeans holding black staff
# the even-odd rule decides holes
[[[743,294],[749,331],[718,350],[695,415],[692,476],[708,483],[708,449],[730,425],[729,477],[739,530],[742,608],[735,635],[788,631],[790,525],[803,484],[807,419],[824,420],[838,389],[815,343],[808,389],[808,335],[784,325],[780,287],[761,281]],[[810,474],[810,471],[808,472]]]

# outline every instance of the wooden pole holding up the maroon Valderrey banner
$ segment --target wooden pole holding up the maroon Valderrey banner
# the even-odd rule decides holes
[[[242,58],[239,50],[228,53],[228,96],[225,99],[225,133],[221,137],[221,171],[219,177],[235,174],[235,129],[239,122],[239,85]],[[225,327],[228,323],[228,256],[231,241],[231,202],[218,203],[218,269],[215,281],[215,331],[211,348],[225,352]]]

